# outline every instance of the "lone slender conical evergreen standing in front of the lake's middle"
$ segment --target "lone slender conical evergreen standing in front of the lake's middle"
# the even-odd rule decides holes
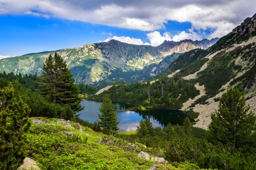
[[[98,121],[98,124],[103,128],[103,132],[109,135],[110,132],[117,131],[119,129],[117,125],[120,121],[117,121],[115,106],[110,100],[108,94],[104,97],[99,110],[101,111],[101,114],[98,114],[98,117],[101,121]]]

